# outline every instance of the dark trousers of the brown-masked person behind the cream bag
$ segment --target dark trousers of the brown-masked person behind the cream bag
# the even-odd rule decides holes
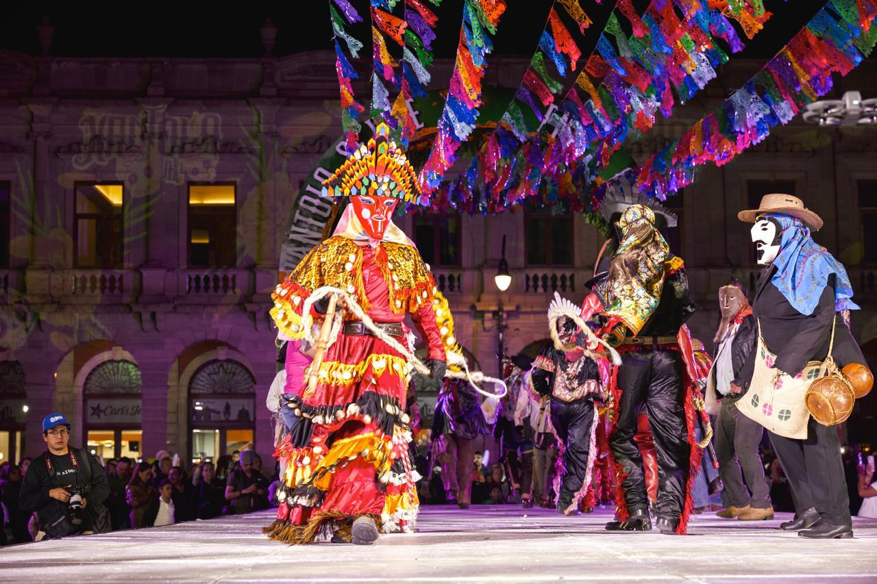
[[[767,509],[771,506],[770,489],[765,481],[765,468],[759,454],[764,428],[737,409],[739,399],[734,396],[723,397],[718,412],[716,435],[713,438],[718,475],[722,477],[724,492],[730,498],[731,505]]]

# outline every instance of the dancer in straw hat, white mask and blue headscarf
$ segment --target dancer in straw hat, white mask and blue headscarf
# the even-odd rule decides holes
[[[783,194],[764,196],[759,209],[740,211],[738,217],[754,224],[752,242],[764,269],[752,299],[760,337],[739,374],[743,385],[738,388],[732,382],[731,393],[748,389],[752,394],[752,388],[762,385],[763,376],[754,375],[762,366],[775,369],[768,376],[773,381],[767,381],[774,388],[783,382],[809,383],[802,379],[802,371],[810,361],[825,360],[830,345],[838,367],[864,364],[843,317],[848,310],[859,309],[852,302],[850,279],[844,266],[810,236],[811,230],[823,226],[822,219],[806,209],[801,199]],[[744,400],[752,402],[750,395]],[[757,410],[767,410],[767,405]],[[768,428],[795,501],[795,518],[781,528],[798,531],[802,538],[852,538],[838,428],[817,423],[803,403],[779,412],[771,410],[769,415],[784,424],[806,417],[801,419],[806,438],[782,436],[779,425],[774,425],[774,431]]]

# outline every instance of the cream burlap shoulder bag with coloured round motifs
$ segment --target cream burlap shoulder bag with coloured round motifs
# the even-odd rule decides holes
[[[834,345],[834,324],[831,325],[829,357]],[[755,369],[749,391],[736,403],[745,417],[755,420],[767,430],[786,438],[807,438],[810,413],[804,396],[813,381],[824,377],[828,367],[822,361],[810,361],[800,374],[790,377],[775,369],[776,355],[767,350],[761,337],[755,353]]]

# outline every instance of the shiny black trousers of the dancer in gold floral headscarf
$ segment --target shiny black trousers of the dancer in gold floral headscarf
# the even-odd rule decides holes
[[[648,509],[643,458],[633,435],[637,414],[645,404],[658,459],[658,514],[681,516],[688,481],[688,427],[682,404],[682,358],[671,350],[623,353],[618,368],[621,400],[618,421],[610,437],[612,454],[627,476],[621,485],[628,509]]]

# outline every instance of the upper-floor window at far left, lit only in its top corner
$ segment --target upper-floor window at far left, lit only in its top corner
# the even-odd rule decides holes
[[[121,184],[77,183],[75,196],[76,267],[121,267],[125,189]]]

